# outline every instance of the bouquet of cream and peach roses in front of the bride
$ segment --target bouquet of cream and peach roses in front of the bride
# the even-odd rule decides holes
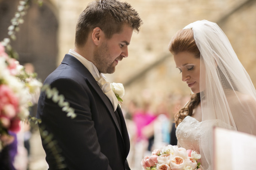
[[[200,158],[195,151],[168,145],[144,157],[141,165],[143,170],[201,170],[200,163],[197,163]]]

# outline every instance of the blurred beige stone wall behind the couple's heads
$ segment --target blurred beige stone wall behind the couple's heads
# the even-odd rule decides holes
[[[176,31],[188,23],[207,19],[219,23],[231,41],[238,58],[256,84],[256,1],[248,0],[127,0],[140,14],[144,24],[139,34],[133,33],[129,57],[118,63],[116,72],[106,75],[110,82],[126,84],[150,64],[169,55],[161,64],[152,67],[131,84],[125,86],[126,101],[142,101],[148,97],[156,101],[170,96],[189,95],[190,89],[181,81],[167,46]],[[75,24],[78,15],[90,0],[52,0],[59,18],[59,60],[74,47]],[[240,7],[238,10],[234,9]],[[146,95],[145,95],[146,94]]]

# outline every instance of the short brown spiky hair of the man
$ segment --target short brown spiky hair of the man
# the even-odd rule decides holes
[[[127,24],[139,32],[142,20],[135,9],[127,2],[118,0],[95,0],[91,2],[80,14],[76,30],[75,45],[81,47],[85,44],[88,34],[99,27],[106,37],[110,39],[113,34],[122,31]]]

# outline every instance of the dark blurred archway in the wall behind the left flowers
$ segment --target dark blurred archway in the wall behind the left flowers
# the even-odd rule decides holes
[[[0,0],[0,41],[7,38],[10,20],[15,15],[19,0]],[[44,79],[56,68],[58,55],[57,31],[58,20],[53,12],[53,5],[44,0],[40,7],[32,1],[20,31],[16,33],[16,41],[12,47],[19,54],[19,62],[32,63],[38,79]],[[32,115],[36,114],[36,106]]]

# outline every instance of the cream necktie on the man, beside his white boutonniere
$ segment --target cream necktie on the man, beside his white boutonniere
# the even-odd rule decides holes
[[[117,109],[118,100],[111,89],[110,83],[107,82],[105,76],[102,73],[100,74],[100,79],[97,82],[101,87],[102,91],[105,93],[105,95],[107,95],[107,97],[110,99],[115,111]]]

